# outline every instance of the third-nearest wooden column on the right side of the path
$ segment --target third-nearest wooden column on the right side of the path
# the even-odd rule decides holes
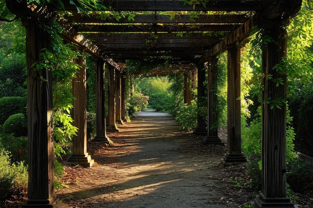
[[[224,143],[217,135],[217,76],[215,69],[218,59],[213,56],[209,57],[207,61],[207,137],[205,144],[223,145]]]

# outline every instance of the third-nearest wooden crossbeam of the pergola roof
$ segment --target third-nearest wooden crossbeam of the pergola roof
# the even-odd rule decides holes
[[[78,32],[192,32],[233,31],[239,24],[125,24],[125,25],[79,25]]]

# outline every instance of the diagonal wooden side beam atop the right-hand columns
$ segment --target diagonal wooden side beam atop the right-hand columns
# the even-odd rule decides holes
[[[226,49],[227,45],[233,44],[238,41],[239,42],[244,41],[244,39],[247,38],[252,31],[253,31],[253,18],[247,20],[241,26],[235,29],[232,33],[226,35],[222,41],[217,43],[215,46],[213,46],[205,53],[205,57],[211,57],[219,54],[220,52]]]

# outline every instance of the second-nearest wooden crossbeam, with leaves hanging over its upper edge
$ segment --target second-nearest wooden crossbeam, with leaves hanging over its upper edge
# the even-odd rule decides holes
[[[121,17],[116,20],[114,16],[101,19],[96,15],[91,17],[75,13],[67,17],[67,22],[75,23],[243,23],[248,19],[246,14],[201,14],[191,17],[188,14],[176,14],[173,17],[164,14],[136,14],[133,20]]]

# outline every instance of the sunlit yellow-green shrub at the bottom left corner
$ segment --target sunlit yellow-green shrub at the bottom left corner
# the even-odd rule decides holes
[[[22,162],[11,164],[7,152],[0,150],[0,200],[8,199],[27,185],[27,167]]]

